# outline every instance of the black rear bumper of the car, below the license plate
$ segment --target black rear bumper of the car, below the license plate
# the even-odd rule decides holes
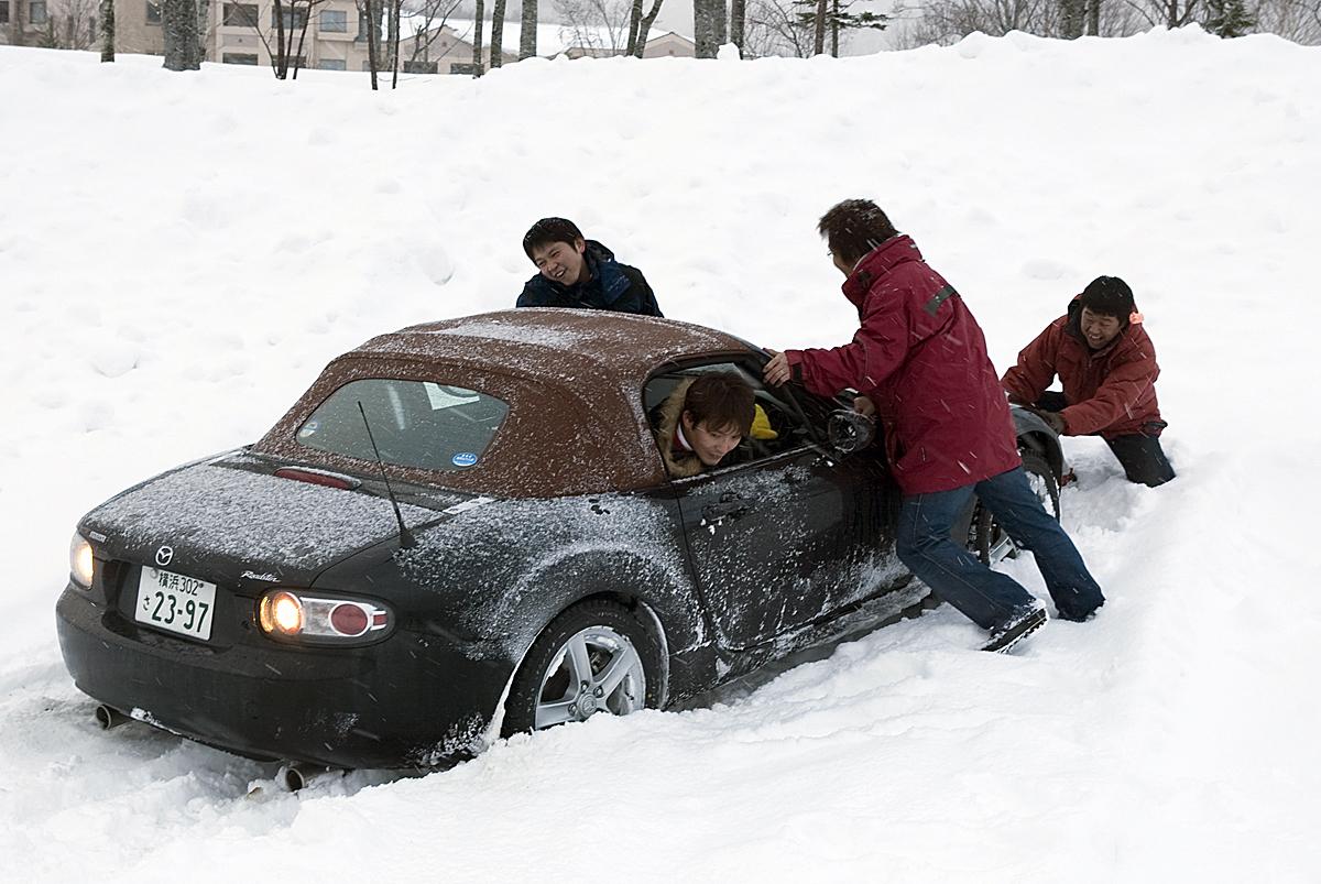
[[[367,647],[206,646],[140,629],[73,585],[55,622],[65,666],[95,700],[252,758],[338,768],[470,757],[514,666],[406,629]]]

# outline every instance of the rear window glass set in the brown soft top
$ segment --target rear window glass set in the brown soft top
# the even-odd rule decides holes
[[[370,424],[384,462],[458,472],[481,462],[507,414],[507,404],[476,390],[371,378],[330,394],[297,437],[308,448],[375,461]]]

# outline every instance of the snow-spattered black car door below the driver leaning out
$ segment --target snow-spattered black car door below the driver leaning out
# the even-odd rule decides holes
[[[724,367],[734,366],[704,366]],[[827,452],[808,414],[740,374],[775,410],[781,451],[672,482],[694,573],[732,649],[830,618],[904,573],[884,464]]]

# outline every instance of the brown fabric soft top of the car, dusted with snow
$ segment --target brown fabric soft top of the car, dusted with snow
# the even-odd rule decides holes
[[[509,416],[470,469],[391,466],[392,476],[498,497],[655,488],[666,472],[642,412],[646,378],[671,362],[748,349],[700,325],[605,311],[524,308],[413,325],[333,359],[254,451],[375,472],[374,464],[300,444],[299,428],[349,382],[433,381],[495,396]]]

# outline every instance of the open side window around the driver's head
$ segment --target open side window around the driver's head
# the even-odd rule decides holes
[[[753,420],[752,432],[732,452],[721,466],[734,464],[748,464],[765,457],[779,455],[781,452],[799,448],[812,439],[811,431],[803,423],[799,410],[783,396],[783,394],[768,388],[760,374],[746,366],[734,362],[715,362],[711,365],[694,366],[678,371],[653,375],[642,394],[642,406],[653,433],[660,431],[663,415],[672,414],[678,403],[671,398],[678,395],[679,385],[705,373],[736,374],[753,388],[757,400],[757,415]],[[666,408],[667,403],[670,410]]]

